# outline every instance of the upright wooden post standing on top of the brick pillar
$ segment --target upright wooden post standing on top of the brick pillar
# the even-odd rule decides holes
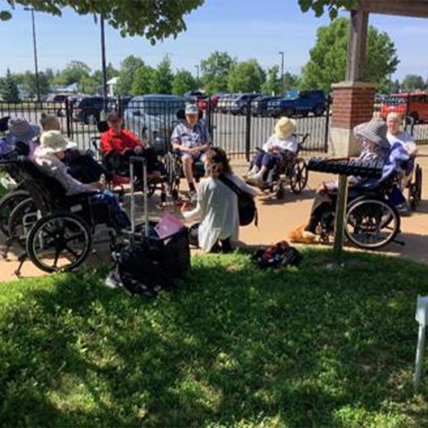
[[[345,75],[345,80],[350,82],[362,80],[366,58],[368,20],[367,11],[351,11]]]

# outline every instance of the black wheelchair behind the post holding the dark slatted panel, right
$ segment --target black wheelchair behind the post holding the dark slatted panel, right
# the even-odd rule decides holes
[[[358,248],[377,250],[397,241],[400,233],[400,215],[389,201],[392,186],[397,185],[397,175],[387,178],[377,188],[350,188],[345,215],[345,237]],[[323,213],[317,227],[320,243],[330,244],[335,235],[335,207],[337,195],[330,195],[332,203]]]

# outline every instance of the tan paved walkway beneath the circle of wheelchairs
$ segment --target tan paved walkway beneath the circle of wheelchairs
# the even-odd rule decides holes
[[[420,149],[421,156],[417,162],[422,165],[424,178],[424,201],[419,205],[416,213],[402,218],[402,234],[400,240],[405,245],[391,243],[379,251],[387,255],[417,260],[428,263],[428,147]],[[236,167],[236,173],[243,173],[245,168]],[[240,240],[245,245],[269,245],[282,239],[287,239],[290,230],[307,221],[315,189],[324,180],[331,180],[332,175],[311,173],[308,188],[301,195],[287,192],[284,200],[277,200],[275,195],[260,195],[258,198],[259,224],[241,228]],[[137,201],[138,205],[142,200]],[[151,199],[151,218],[157,217],[161,212],[156,208],[159,203],[158,196]],[[4,237],[0,237],[0,250],[4,246]],[[104,246],[105,248],[105,246]],[[0,282],[13,278],[16,269],[16,254],[11,252],[10,261],[0,260]],[[98,245],[96,254],[91,255],[88,265],[109,263],[109,255]],[[31,263],[24,264],[22,270],[24,277],[44,275]]]

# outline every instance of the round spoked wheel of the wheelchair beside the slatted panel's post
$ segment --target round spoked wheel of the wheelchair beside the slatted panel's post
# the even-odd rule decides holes
[[[350,203],[345,234],[357,247],[373,250],[391,242],[399,232],[397,209],[386,200],[357,199]]]

